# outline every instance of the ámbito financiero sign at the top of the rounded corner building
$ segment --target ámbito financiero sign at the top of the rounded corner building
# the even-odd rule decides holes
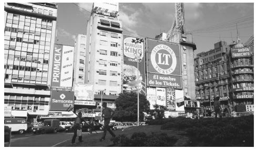
[[[253,50],[253,47],[231,48],[232,58],[251,56]]]

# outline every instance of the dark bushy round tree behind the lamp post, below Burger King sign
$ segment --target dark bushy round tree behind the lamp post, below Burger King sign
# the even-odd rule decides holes
[[[116,110],[114,119],[117,121],[137,121],[137,93],[133,91],[124,91],[120,93],[115,100]],[[144,113],[149,110],[149,101],[145,95],[139,94],[139,120],[142,121]]]

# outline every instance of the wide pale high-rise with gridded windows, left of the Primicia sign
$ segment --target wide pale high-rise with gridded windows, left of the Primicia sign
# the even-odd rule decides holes
[[[12,116],[47,115],[57,5],[5,3],[4,104]]]

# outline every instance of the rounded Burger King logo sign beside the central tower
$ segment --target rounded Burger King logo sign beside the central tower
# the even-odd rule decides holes
[[[132,42],[132,40],[136,40],[136,38],[128,37],[128,38],[124,39],[124,54],[125,54],[125,56],[127,56],[128,58],[134,59],[135,55],[140,55],[139,59],[142,59],[144,56],[143,42],[134,43],[134,42]]]

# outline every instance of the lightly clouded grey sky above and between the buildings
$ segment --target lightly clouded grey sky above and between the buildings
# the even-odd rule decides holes
[[[86,35],[93,3],[57,3],[57,41],[73,45],[77,34]],[[244,43],[253,35],[253,3],[185,3],[185,31],[197,45],[194,56],[214,49],[214,43]],[[175,3],[119,3],[125,35],[155,38],[168,32],[175,17]],[[233,39],[233,40],[232,40]]]

